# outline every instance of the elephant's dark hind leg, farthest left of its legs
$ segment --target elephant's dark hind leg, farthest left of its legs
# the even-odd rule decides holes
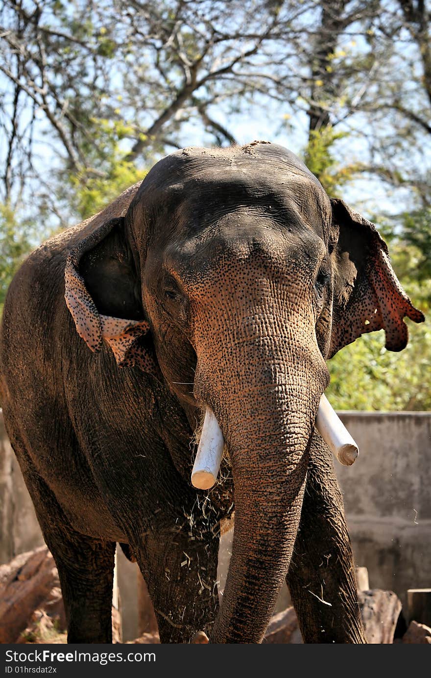
[[[68,643],[112,643],[115,542],[76,532],[39,476],[27,475],[26,483],[58,568]]]

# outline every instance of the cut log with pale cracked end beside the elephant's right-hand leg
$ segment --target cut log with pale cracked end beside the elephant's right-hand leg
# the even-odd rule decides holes
[[[372,645],[394,642],[401,601],[393,591],[358,591],[359,607],[367,641]]]

